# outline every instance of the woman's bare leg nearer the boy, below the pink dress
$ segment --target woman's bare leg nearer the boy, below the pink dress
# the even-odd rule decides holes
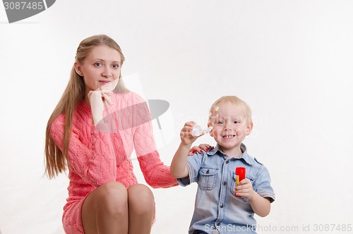
[[[150,234],[155,217],[155,197],[145,185],[128,188],[128,234]]]

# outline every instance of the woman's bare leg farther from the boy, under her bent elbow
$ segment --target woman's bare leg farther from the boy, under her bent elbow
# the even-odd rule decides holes
[[[86,197],[81,213],[85,234],[128,233],[128,192],[119,182],[107,182]]]

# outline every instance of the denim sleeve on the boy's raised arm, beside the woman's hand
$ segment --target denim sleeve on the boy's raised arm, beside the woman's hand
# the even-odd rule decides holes
[[[179,185],[184,187],[198,180],[198,171],[201,168],[203,154],[205,153],[195,153],[193,156],[189,156],[186,159],[186,168],[188,168],[189,176],[177,179]]]

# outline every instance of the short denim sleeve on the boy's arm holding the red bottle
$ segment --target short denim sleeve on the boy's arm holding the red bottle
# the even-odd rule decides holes
[[[261,197],[270,199],[271,203],[275,201],[275,192],[273,191],[273,187],[271,187],[270,173],[264,165],[261,165],[261,168],[258,170],[256,180],[253,182],[253,190]]]

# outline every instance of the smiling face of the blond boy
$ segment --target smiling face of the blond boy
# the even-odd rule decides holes
[[[241,142],[253,129],[253,124],[247,122],[245,108],[230,102],[220,103],[212,111],[209,125],[213,126],[210,135],[224,152],[240,149]]]

